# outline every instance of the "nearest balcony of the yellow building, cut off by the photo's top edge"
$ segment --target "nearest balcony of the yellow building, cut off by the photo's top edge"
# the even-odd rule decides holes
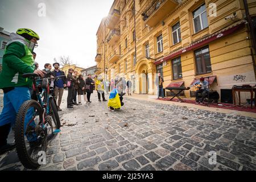
[[[179,0],[157,0],[148,4],[146,11],[142,14],[143,20],[148,26],[154,27],[164,17],[174,11],[179,5]]]

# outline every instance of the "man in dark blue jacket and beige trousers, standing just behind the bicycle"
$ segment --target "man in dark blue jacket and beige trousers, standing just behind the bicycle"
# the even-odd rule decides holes
[[[56,80],[54,82],[54,95],[55,95],[55,100],[57,101],[57,109],[61,111],[60,104],[61,104],[64,88],[67,87],[67,77],[65,76],[65,73],[59,69],[60,68],[59,63],[54,63],[53,67],[54,67],[54,71],[52,71],[53,77],[63,76],[63,77],[60,77],[59,80]],[[59,99],[57,100],[57,98]]]

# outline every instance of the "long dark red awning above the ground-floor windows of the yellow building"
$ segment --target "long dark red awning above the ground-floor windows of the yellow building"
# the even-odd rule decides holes
[[[169,55],[164,56],[164,57],[156,60],[155,64],[156,65],[161,64],[161,63],[163,63],[163,61],[170,60],[173,57],[181,55],[182,53],[185,53],[185,52],[190,51],[190,50],[195,49],[195,48],[199,48],[199,47],[204,46],[205,44],[208,44],[208,43],[210,43],[210,42],[212,42],[212,41],[214,41],[216,39],[220,39],[223,36],[232,34],[233,32],[237,31],[239,28],[241,28],[243,26],[245,26],[245,20],[242,20],[241,22],[237,23],[236,25],[224,28],[221,31],[218,31],[218,32],[216,32],[216,33],[214,33],[212,35],[209,35],[209,36],[201,39],[201,40],[198,40],[198,41],[196,41],[196,42],[194,42],[192,44],[189,44],[186,47],[180,48],[177,51],[174,51],[174,52],[170,53]]]

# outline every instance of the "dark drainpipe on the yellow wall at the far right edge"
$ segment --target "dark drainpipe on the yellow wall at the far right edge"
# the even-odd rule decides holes
[[[251,36],[251,43],[252,43],[252,47],[254,48],[254,52],[256,53],[256,35],[254,35],[255,32],[255,28],[253,26],[253,21],[251,20],[251,15],[249,13],[249,8],[248,8],[248,4],[247,4],[247,0],[243,0],[243,5],[245,6],[245,14],[246,14],[246,20],[249,24],[249,34]],[[254,55],[253,55],[253,50],[251,49],[251,56],[253,59],[253,67],[254,67],[254,74],[256,77],[256,63],[255,63],[255,59],[254,59]]]

